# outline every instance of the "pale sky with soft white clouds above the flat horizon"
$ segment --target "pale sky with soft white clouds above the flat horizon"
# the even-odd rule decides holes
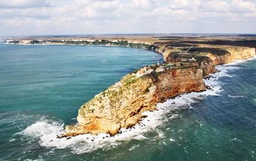
[[[256,0],[0,0],[0,36],[256,33]]]

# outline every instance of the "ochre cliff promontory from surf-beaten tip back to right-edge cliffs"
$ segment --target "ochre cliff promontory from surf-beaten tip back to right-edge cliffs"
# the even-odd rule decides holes
[[[169,48],[160,46],[165,65],[142,68],[81,106],[78,125],[66,126],[66,136],[110,133],[136,125],[143,112],[156,109],[157,102],[182,93],[205,90],[203,78],[216,72],[215,65],[255,56],[254,48]]]

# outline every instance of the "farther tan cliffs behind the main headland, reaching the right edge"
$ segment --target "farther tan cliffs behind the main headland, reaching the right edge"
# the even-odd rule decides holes
[[[184,52],[186,48],[166,47],[163,52],[165,62],[189,62],[203,70],[204,77],[216,72],[215,66],[234,62],[238,59],[248,59],[255,56],[255,49],[248,47],[226,46],[218,48],[199,48]],[[193,61],[190,61],[194,59]]]

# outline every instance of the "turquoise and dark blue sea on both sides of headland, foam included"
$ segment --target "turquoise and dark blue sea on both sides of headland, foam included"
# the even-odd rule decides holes
[[[0,160],[256,160],[256,60],[218,66],[212,90],[159,104],[114,137],[57,139],[78,109],[154,52],[0,44]]]

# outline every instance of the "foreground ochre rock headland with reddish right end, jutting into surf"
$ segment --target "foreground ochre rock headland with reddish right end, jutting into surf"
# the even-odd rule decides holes
[[[139,122],[144,117],[143,112],[155,110],[157,102],[202,90],[205,90],[202,69],[195,66],[128,74],[81,106],[78,125],[66,126],[63,136],[84,133],[115,135],[120,128],[129,128]]]

